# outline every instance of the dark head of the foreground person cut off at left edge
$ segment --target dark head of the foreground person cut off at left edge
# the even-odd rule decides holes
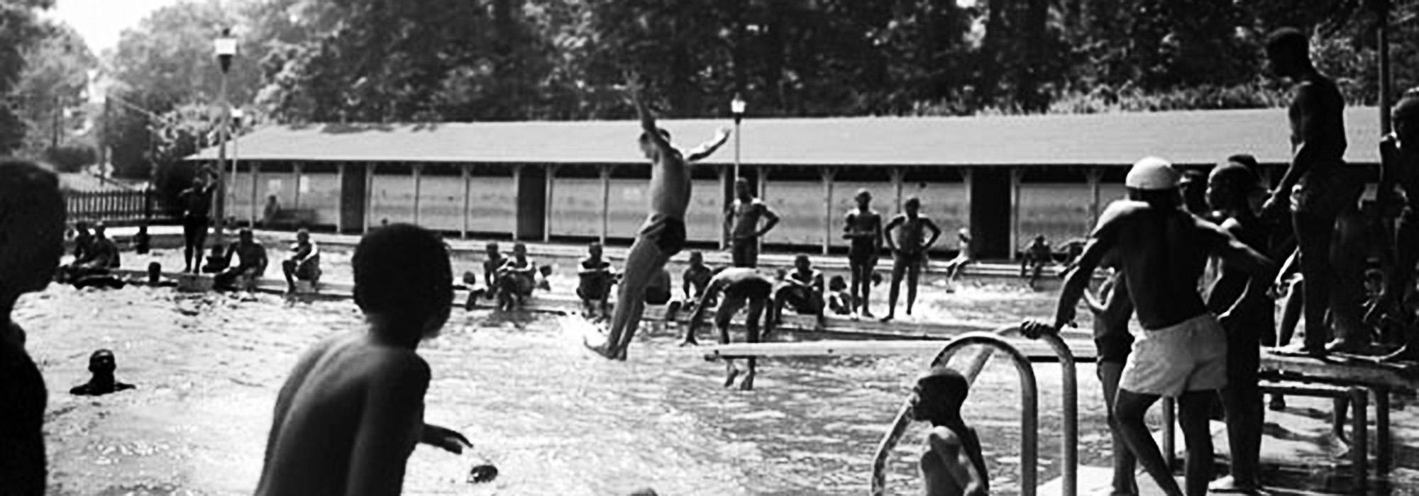
[[[64,197],[45,166],[0,159],[0,319],[50,285],[64,252]]]

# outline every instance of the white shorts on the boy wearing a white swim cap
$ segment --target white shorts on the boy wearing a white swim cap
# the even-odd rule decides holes
[[[1227,336],[1212,313],[1134,339],[1118,387],[1138,394],[1178,397],[1227,385]]]

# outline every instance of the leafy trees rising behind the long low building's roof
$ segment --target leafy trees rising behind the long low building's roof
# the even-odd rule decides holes
[[[102,54],[114,95],[165,116],[114,112],[105,142],[129,176],[211,145],[226,26],[248,123],[627,118],[629,75],[677,118],[735,94],[751,116],[971,115],[1280,105],[1280,26],[1374,103],[1382,9],[1398,91],[1419,82],[1419,0],[194,0]]]

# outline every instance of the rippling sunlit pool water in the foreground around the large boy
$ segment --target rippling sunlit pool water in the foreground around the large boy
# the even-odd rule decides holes
[[[17,322],[50,388],[54,495],[250,493],[277,390],[298,354],[360,329],[350,302],[187,295],[159,288],[26,296]],[[89,398],[87,357],[112,349],[138,390]],[[877,442],[925,357],[761,361],[755,391],[727,390],[724,366],[650,332],[630,361],[590,356],[551,317],[454,310],[420,349],[431,368],[426,421],[464,432],[501,475],[427,446],[409,459],[414,495],[861,495]],[[1040,364],[1040,475],[1059,475],[1059,366]],[[986,439],[996,493],[1017,492],[1013,367],[993,363],[965,415]],[[1104,465],[1108,436],[1091,367],[1080,370],[1081,462]],[[917,493],[917,442],[891,463],[893,493]],[[1042,480],[1043,482],[1043,480]]]

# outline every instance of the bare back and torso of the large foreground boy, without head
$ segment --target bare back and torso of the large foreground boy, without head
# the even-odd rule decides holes
[[[257,495],[397,495],[429,377],[414,351],[363,333],[315,344],[277,397]]]

